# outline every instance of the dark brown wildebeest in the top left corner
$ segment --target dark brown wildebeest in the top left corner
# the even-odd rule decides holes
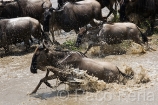
[[[3,3],[0,6],[0,17],[32,17],[43,24],[43,12],[45,8],[52,6],[50,0],[14,0],[9,3]]]

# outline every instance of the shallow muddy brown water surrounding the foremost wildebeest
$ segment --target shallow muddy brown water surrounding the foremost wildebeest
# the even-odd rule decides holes
[[[75,34],[58,36],[57,40],[63,42],[65,39],[75,37]],[[144,84],[137,84],[134,81],[129,81],[126,85],[107,84],[107,89],[97,92],[76,90],[75,93],[69,93],[65,91],[67,85],[61,85],[56,90],[42,84],[36,94],[28,95],[45,76],[45,72],[40,70],[38,74],[31,74],[33,52],[0,58],[0,105],[157,105],[158,36],[153,35],[150,39],[152,39],[150,45],[157,51],[92,58],[109,61],[122,71],[124,65],[132,67],[135,72],[139,72],[142,66],[151,81]],[[56,80],[51,80],[50,83],[56,85]]]

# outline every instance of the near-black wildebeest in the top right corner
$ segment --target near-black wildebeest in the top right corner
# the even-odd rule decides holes
[[[149,19],[150,27],[146,31],[147,35],[152,35],[154,31],[155,16],[158,11],[158,0],[122,0],[120,9],[120,20],[129,18],[130,14],[138,14],[142,19]]]

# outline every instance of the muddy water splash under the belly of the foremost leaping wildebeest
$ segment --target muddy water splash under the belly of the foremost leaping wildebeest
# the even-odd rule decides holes
[[[81,89],[86,91],[101,91],[106,89],[106,83],[103,80],[98,80],[97,77],[90,76],[84,70],[74,69],[71,71],[72,79],[69,80],[69,90]]]

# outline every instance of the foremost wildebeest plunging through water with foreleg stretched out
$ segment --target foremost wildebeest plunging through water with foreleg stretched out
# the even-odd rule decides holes
[[[48,83],[47,80],[59,78],[60,81],[63,81],[63,82],[67,81],[69,74],[64,73],[63,69],[65,69],[65,65],[61,65],[61,63],[64,63],[67,60],[69,60],[68,58],[70,58],[71,56],[68,54],[70,54],[71,56],[75,54],[77,59],[79,57],[78,60],[82,60],[82,59],[88,60],[89,59],[89,58],[85,58],[85,56],[83,57],[82,53],[80,53],[80,52],[71,53],[68,51],[55,51],[54,49],[48,47],[48,44],[45,42],[43,43],[43,45],[37,47],[37,49],[35,50],[35,53],[32,57],[30,70],[32,73],[37,73],[37,69],[42,70],[42,71],[47,71],[47,73],[46,73],[46,76],[40,80],[40,82],[38,83],[36,88],[32,91],[32,93],[36,93],[38,88],[40,87],[40,85],[43,82],[50,88],[53,88],[50,85],[50,83]],[[80,56],[80,55],[82,55],[82,56]],[[79,64],[77,59],[74,59],[74,62],[70,62],[70,63],[73,65]],[[62,60],[63,60],[63,62],[60,62]],[[92,61],[93,60],[89,59],[89,61],[85,61],[86,62],[85,64],[87,64],[88,62],[92,63]],[[97,61],[95,61],[95,62],[97,62]],[[129,75],[126,75],[126,74],[122,73],[121,71],[119,71],[119,69],[111,63],[108,63],[108,62],[99,63],[98,62],[96,64],[100,64],[100,65],[97,65],[98,68],[96,68],[96,65],[93,66],[93,67],[95,67],[96,71],[94,71],[95,70],[94,68],[91,68],[92,64],[89,65],[91,67],[87,66],[88,68],[81,68],[81,67],[79,67],[79,68],[87,70],[91,74],[94,73],[93,74],[94,76],[98,77],[99,79],[103,79],[104,81],[107,81],[107,82],[112,82],[115,80],[117,81],[117,79],[121,75],[123,75],[125,78],[132,78],[133,72],[129,73]],[[83,66],[86,66],[86,65],[83,65]],[[101,70],[101,71],[99,71],[99,70]],[[54,73],[54,75],[49,75],[50,71],[52,71]],[[105,74],[105,73],[107,73],[107,74]],[[101,74],[103,74],[103,75],[101,75]],[[104,76],[104,74],[105,74],[105,76]],[[108,76],[110,76],[111,78]]]

